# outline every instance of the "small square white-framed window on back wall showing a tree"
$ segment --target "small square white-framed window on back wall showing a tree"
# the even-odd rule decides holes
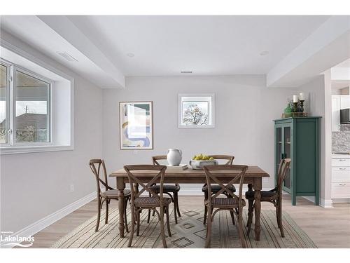
[[[214,94],[179,94],[179,128],[214,128]]]

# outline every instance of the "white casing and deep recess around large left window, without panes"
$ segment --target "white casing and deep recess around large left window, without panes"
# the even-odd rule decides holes
[[[57,67],[48,64],[42,59],[36,57],[34,53],[27,50],[27,46],[20,45],[14,46],[13,43],[8,42],[8,40],[0,36],[0,50],[3,50],[3,59],[11,61],[12,58],[15,60],[15,64],[25,67],[26,69],[32,69],[36,72],[38,69],[38,74],[41,76],[46,76],[48,78],[54,79],[55,87],[52,91],[51,98],[51,142],[52,145],[29,145],[29,146],[13,146],[9,144],[0,144],[0,156],[7,154],[30,154],[38,152],[47,152],[47,151],[72,151],[74,150],[74,86],[75,80],[70,74],[57,69]],[[45,58],[45,57],[43,57]],[[18,62],[17,62],[18,61]],[[22,64],[23,65],[22,65]],[[27,67],[29,65],[29,67]],[[64,94],[64,97],[62,97]],[[56,96],[57,95],[57,96]],[[61,112],[57,109],[59,104],[65,105],[65,111]],[[64,119],[62,119],[62,116]],[[8,117],[10,119],[10,117]],[[62,126],[62,120],[64,123],[69,123],[69,126]],[[60,123],[60,124],[58,124]]]

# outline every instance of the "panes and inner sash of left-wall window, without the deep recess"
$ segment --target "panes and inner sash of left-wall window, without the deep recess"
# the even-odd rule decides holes
[[[0,143],[7,146],[51,143],[53,81],[1,60]]]

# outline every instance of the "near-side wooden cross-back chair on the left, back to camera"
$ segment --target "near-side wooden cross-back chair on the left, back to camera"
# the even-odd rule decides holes
[[[127,178],[130,182],[131,188],[131,205],[130,209],[132,211],[132,222],[135,222],[135,217],[137,220],[137,236],[139,236],[140,231],[140,213],[144,209],[151,209],[157,213],[158,218],[160,220],[160,234],[162,236],[163,247],[167,248],[167,242],[165,241],[165,230],[164,230],[164,214],[167,215],[167,229],[169,236],[172,236],[170,232],[170,224],[169,224],[169,204],[172,203],[171,198],[163,197],[163,187],[164,187],[164,175],[167,166],[158,166],[158,165],[132,165],[132,166],[124,166],[125,171],[127,172]],[[137,170],[147,170],[154,171],[157,173],[151,180],[147,183],[141,182],[141,177],[137,177]],[[151,186],[160,181],[160,191],[156,193],[153,191]],[[141,190],[139,191],[139,187],[141,186]],[[142,196],[144,192],[148,192],[151,196]],[[157,208],[160,208],[160,212],[158,212]],[[132,224],[130,239],[128,243],[128,247],[132,245],[132,238],[134,236],[134,224]]]

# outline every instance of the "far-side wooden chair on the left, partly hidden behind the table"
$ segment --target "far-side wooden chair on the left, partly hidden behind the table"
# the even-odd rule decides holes
[[[152,161],[154,165],[160,166],[161,164],[158,163],[160,160],[167,160],[166,155],[158,155],[158,156],[152,156]],[[155,193],[159,193],[160,191],[160,185],[159,184],[153,184],[153,186],[150,187]],[[167,194],[172,198],[172,202],[174,203],[174,217],[175,217],[175,224],[177,224],[177,216],[181,217],[180,208],[179,208],[179,191],[180,191],[180,185],[179,184],[164,184],[163,186],[163,193]],[[155,211],[153,210],[153,216],[155,215]],[[151,217],[151,210],[148,210],[148,217],[147,222],[150,222]]]

